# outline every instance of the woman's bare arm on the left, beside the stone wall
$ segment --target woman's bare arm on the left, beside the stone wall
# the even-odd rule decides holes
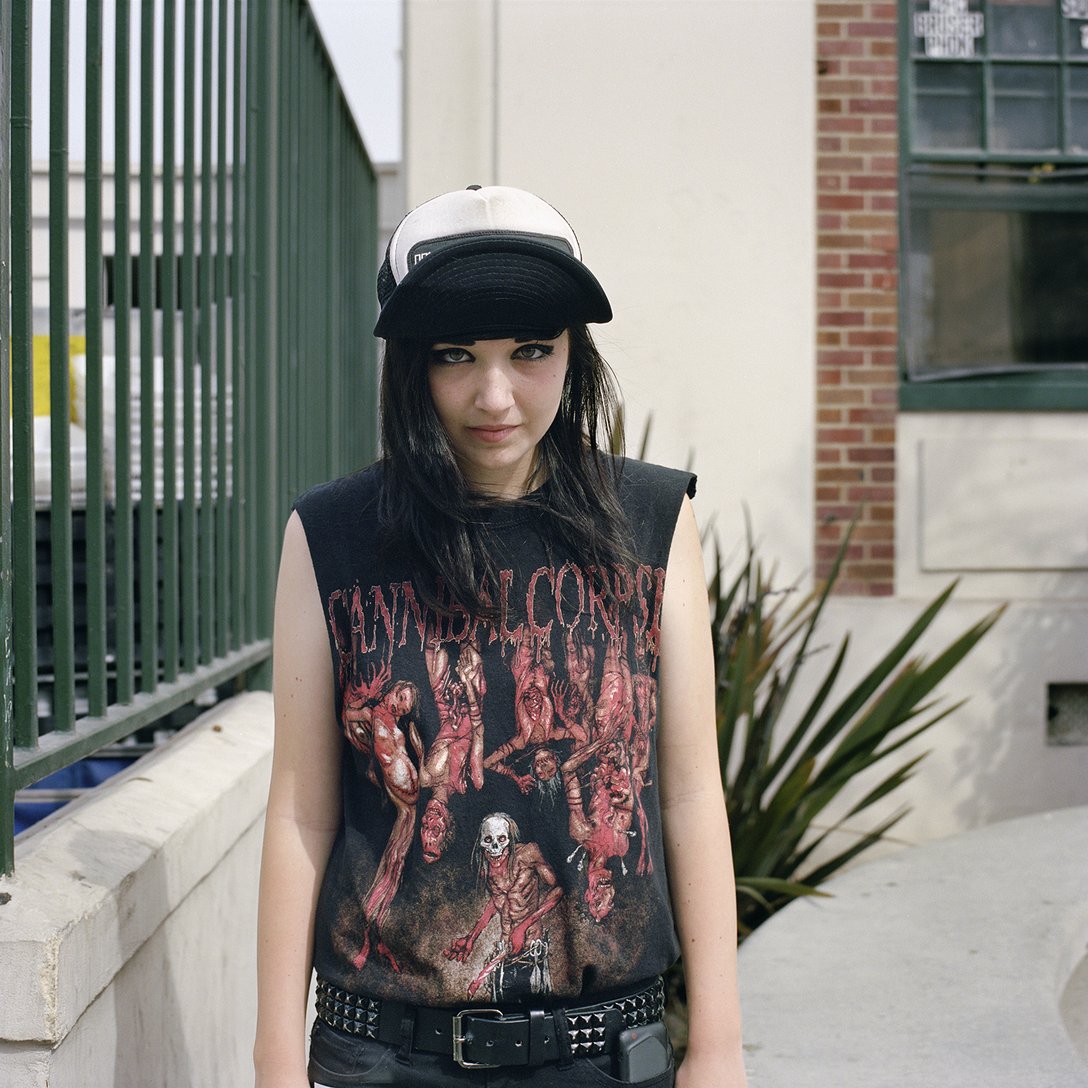
[[[257,1088],[309,1088],[306,1002],[318,892],[341,819],[333,666],[306,532],[292,514],[275,595],[275,744],[257,917]]]

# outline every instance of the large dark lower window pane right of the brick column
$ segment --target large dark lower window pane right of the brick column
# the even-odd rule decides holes
[[[915,374],[1088,362],[1088,212],[914,210]]]

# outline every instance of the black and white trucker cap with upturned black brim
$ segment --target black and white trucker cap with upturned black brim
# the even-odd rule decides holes
[[[409,212],[378,273],[374,335],[500,339],[611,320],[570,224],[505,185],[446,193]]]

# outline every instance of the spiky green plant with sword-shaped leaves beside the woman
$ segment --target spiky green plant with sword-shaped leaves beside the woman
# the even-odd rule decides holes
[[[804,871],[808,858],[842,823],[812,833],[814,820],[839,792],[963,704],[938,708],[941,700],[929,695],[1003,610],[1002,606],[989,613],[931,660],[922,656],[904,660],[951,596],[953,582],[845,697],[825,712],[846,656],[850,635],[844,635],[816,694],[807,706],[788,715],[787,696],[812,656],[813,633],[850,536],[848,532],[823,586],[792,607],[789,592],[771,588],[751,534],[746,561],[728,586],[715,549],[708,595],[718,758],[732,837],[740,939],[798,895],[821,894],[818,885],[906,815],[910,809],[904,807],[848,849]],[[925,754],[879,777],[843,820],[902,786]]]

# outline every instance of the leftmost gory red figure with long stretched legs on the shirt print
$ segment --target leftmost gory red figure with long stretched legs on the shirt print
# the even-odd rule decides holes
[[[362,949],[355,957],[355,966],[362,967],[370,955],[371,937],[374,948],[398,972],[400,966],[382,940],[382,924],[390,904],[400,887],[405,858],[411,844],[416,825],[416,802],[419,799],[419,775],[408,755],[407,740],[411,741],[418,759],[423,758],[416,722],[411,719],[419,706],[419,692],[407,680],[394,681],[386,659],[381,669],[371,669],[364,679],[356,667],[344,691],[344,731],[351,744],[370,756],[368,775],[371,781],[385,790],[396,808],[396,819],[390,840],[385,844],[378,871],[367,891],[363,916],[367,932]]]

